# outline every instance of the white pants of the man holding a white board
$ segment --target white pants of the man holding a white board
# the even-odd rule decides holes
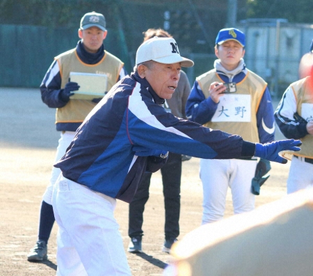
[[[61,138],[58,140],[58,148],[56,148],[56,158],[54,159],[54,163],[63,158],[63,155],[65,155],[66,149],[70,146],[75,134],[76,132],[73,131],[61,132]],[[42,196],[42,200],[47,202],[47,204],[52,205],[52,191],[54,190],[54,183],[56,183],[60,173],[60,169],[52,167],[50,183],[47,185],[45,193]]]

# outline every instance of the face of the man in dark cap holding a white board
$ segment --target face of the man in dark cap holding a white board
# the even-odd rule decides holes
[[[102,46],[107,32],[108,31],[102,31],[96,26],[92,26],[86,30],[79,29],[79,38],[83,39],[83,46],[87,52],[96,53]]]

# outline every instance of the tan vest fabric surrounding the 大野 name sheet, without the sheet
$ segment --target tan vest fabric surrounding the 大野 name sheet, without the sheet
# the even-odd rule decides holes
[[[197,80],[205,98],[209,98],[209,86],[212,82],[223,82],[223,80],[218,77],[215,69],[197,77]],[[262,99],[266,86],[267,84],[264,82],[264,79],[248,70],[246,77],[236,84],[236,95],[250,95],[250,122],[209,121],[205,123],[204,126],[214,130],[223,130],[230,134],[240,135],[246,141],[259,142],[259,134],[257,131],[257,109],[259,108],[259,102]],[[229,95],[227,94],[225,95],[225,97],[228,96]],[[218,110],[216,110],[216,112],[218,112]]]

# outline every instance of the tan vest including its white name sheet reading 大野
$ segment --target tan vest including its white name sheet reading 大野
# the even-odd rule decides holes
[[[240,135],[246,141],[259,142],[257,109],[267,84],[254,72],[247,71],[246,77],[236,84],[236,93],[225,94],[220,98],[214,117],[204,126]],[[196,79],[205,98],[209,98],[209,86],[212,82],[223,82],[216,69]]]

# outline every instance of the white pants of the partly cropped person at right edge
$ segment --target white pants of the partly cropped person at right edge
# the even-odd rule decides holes
[[[287,179],[287,194],[297,192],[313,185],[313,164],[305,162],[304,158],[292,157]]]

